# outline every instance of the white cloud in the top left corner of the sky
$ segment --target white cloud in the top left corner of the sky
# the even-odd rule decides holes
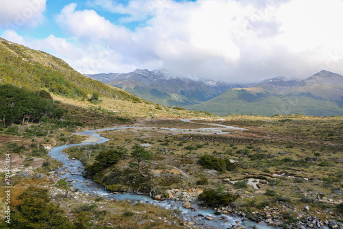
[[[0,27],[26,29],[43,22],[46,0],[1,0]]]

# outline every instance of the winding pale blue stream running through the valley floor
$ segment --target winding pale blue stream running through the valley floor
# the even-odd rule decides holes
[[[189,119],[182,119],[182,121],[185,122],[191,122]],[[206,124],[206,123],[199,123],[199,124]],[[206,124],[207,125],[207,124]],[[217,124],[215,124],[217,125]],[[199,129],[193,129],[191,130],[199,132],[204,132],[204,134],[227,134],[227,132],[222,132],[222,130],[243,130],[241,128],[233,128],[230,126],[225,125],[217,125],[218,128],[199,128]],[[198,226],[203,226],[204,228],[231,228],[232,226],[235,226],[237,224],[240,225],[247,225],[247,226],[256,226],[259,229],[264,228],[270,228],[266,226],[265,224],[255,224],[252,221],[244,220],[242,221],[241,217],[233,217],[228,215],[215,215],[215,210],[212,210],[211,208],[206,209],[199,209],[199,206],[196,206],[192,203],[192,206],[196,208],[196,210],[190,210],[187,208],[182,207],[182,202],[177,202],[174,200],[165,200],[165,201],[157,201],[152,199],[152,197],[149,197],[147,195],[135,195],[131,193],[125,193],[125,194],[113,194],[110,191],[106,191],[104,189],[104,186],[101,186],[94,182],[91,179],[86,179],[82,176],[82,173],[84,171],[84,167],[82,165],[82,162],[80,160],[72,160],[69,158],[66,154],[62,153],[63,149],[67,149],[69,147],[75,147],[80,145],[94,145],[94,144],[101,144],[105,143],[106,141],[109,141],[108,138],[104,138],[97,134],[97,132],[102,132],[106,130],[122,130],[122,129],[150,129],[150,130],[169,130],[172,132],[182,133],[186,132],[189,133],[189,129],[178,129],[178,128],[144,128],[144,127],[119,127],[119,128],[106,128],[106,129],[99,129],[99,130],[87,130],[84,132],[78,132],[78,134],[82,134],[84,136],[89,136],[93,138],[97,138],[97,141],[84,141],[83,143],[79,144],[71,144],[71,145],[61,145],[58,147],[54,147],[49,152],[49,155],[53,158],[56,158],[56,160],[59,160],[62,162],[62,167],[60,167],[57,171],[57,175],[60,178],[66,179],[68,182],[71,182],[73,184],[73,189],[78,189],[78,191],[82,191],[84,193],[93,194],[93,195],[103,195],[104,197],[108,197],[110,199],[116,199],[116,200],[132,200],[132,201],[141,201],[145,202],[147,204],[158,204],[158,206],[163,206],[165,208],[174,208],[181,210],[182,214],[180,215],[181,219],[184,221],[197,221]],[[198,214],[203,215],[204,217],[209,216],[212,217],[214,220],[205,220],[204,217],[198,217]],[[225,217],[224,220],[222,220],[222,217]]]

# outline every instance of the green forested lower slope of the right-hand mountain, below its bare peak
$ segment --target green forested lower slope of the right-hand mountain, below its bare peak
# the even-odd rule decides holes
[[[343,115],[340,101],[319,99],[311,94],[275,95],[261,92],[254,95],[245,89],[228,90],[214,99],[187,108],[213,112],[217,115],[241,113],[268,116],[296,113],[315,116]]]

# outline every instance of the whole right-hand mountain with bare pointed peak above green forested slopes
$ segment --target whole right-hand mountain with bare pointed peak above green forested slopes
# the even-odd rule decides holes
[[[305,80],[277,77],[250,88],[228,89],[209,101],[187,106],[217,115],[343,115],[343,77],[320,71]]]

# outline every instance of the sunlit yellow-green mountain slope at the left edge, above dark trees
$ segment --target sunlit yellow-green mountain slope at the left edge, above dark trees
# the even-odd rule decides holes
[[[98,93],[102,97],[140,101],[126,91],[85,77],[59,58],[3,38],[0,38],[0,84],[12,84],[29,91],[45,89],[78,99]]]

